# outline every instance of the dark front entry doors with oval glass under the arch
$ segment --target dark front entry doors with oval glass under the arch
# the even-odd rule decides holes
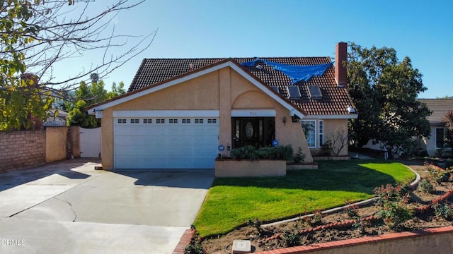
[[[233,117],[233,148],[267,147],[275,139],[275,117]]]

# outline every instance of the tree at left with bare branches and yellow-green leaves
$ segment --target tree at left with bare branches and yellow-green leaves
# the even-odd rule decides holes
[[[0,131],[30,128],[33,121],[45,119],[56,97],[67,99],[67,91],[88,81],[90,73],[100,80],[151,45],[156,31],[137,39],[117,35],[108,25],[116,13],[143,1],[110,1],[102,10],[91,8],[93,2],[0,1]],[[98,13],[88,16],[91,9]],[[122,51],[125,46],[129,49]],[[91,52],[103,54],[100,63],[81,66],[63,80],[53,76],[58,61]]]

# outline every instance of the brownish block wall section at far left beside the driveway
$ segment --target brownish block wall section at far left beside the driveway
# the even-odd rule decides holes
[[[45,163],[45,131],[0,132],[0,172]]]

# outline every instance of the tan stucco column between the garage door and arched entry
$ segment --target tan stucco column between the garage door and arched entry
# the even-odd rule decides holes
[[[231,146],[231,68],[219,70],[219,144]],[[226,154],[226,150],[224,152]]]

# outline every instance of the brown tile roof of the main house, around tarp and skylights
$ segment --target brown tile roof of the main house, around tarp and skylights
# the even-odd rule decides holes
[[[331,63],[329,57],[262,57],[260,59],[299,66]],[[223,60],[225,59],[144,59],[128,92],[183,75],[190,71],[190,66],[192,66],[192,70],[197,70]],[[238,63],[254,60],[256,60],[254,57],[234,58],[234,61]],[[258,65],[263,68],[257,68]],[[306,82],[300,81],[294,84],[299,87],[300,99],[289,99],[287,86],[291,85],[291,82],[287,75],[275,71],[265,63],[258,62],[256,66],[245,67],[245,69],[263,83],[279,87],[280,95],[296,104],[309,115],[348,115],[348,106],[353,106],[347,89],[336,85],[333,66],[328,67],[320,77],[313,77]],[[323,95],[321,99],[309,97],[309,85],[319,85]]]

